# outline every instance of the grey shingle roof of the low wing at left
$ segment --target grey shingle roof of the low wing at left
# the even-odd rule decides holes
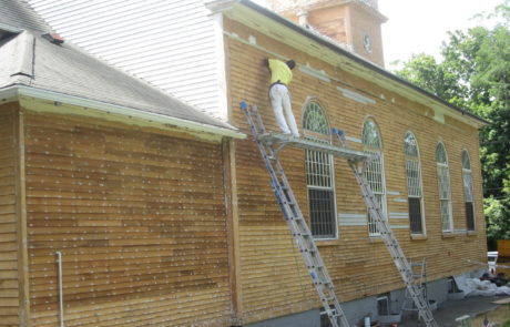
[[[1,24],[24,31],[0,41],[0,90],[26,85],[222,129],[232,125],[208,116],[144,81],[64,42],[41,37],[49,31],[24,2],[0,0]]]

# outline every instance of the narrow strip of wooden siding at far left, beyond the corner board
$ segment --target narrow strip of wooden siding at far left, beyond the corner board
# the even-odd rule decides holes
[[[16,110],[0,105],[0,326],[19,326],[19,226],[16,206]]]

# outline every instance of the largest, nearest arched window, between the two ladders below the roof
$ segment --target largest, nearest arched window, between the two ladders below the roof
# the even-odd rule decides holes
[[[316,101],[306,104],[303,127],[307,139],[326,142],[322,134],[329,134],[326,114]],[[314,136],[314,134],[316,136]],[[333,160],[329,154],[306,151],[306,183],[312,234],[316,238],[335,238],[337,234]]]

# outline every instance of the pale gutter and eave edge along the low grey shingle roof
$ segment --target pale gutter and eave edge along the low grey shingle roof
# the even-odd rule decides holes
[[[156,123],[161,123],[163,125],[172,125],[181,129],[185,129],[193,132],[202,132],[202,133],[210,133],[225,137],[233,137],[233,139],[246,139],[246,134],[238,131],[235,127],[221,127],[198,122],[193,122],[184,119],[178,119],[174,116],[167,116],[160,113],[153,112],[145,112],[140,111],[134,108],[123,106],[111,104],[106,102],[101,102],[96,100],[89,100],[80,96],[68,95],[59,92],[47,91],[37,88],[30,88],[26,85],[11,85],[4,89],[0,89],[0,101],[7,100],[10,98],[19,98],[19,96],[31,96],[41,100],[49,100],[57,103],[65,103],[88,109],[94,109],[98,111],[102,111],[105,113],[114,113],[124,116],[130,116],[134,119],[152,121]]]

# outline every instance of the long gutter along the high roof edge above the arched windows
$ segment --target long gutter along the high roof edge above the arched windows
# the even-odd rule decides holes
[[[220,2],[222,2],[222,1],[220,1]],[[396,81],[396,82],[398,82],[400,84],[405,84],[406,86],[408,86],[408,88],[410,88],[410,89],[412,89],[412,90],[415,90],[415,91],[417,91],[417,92],[419,92],[419,93],[421,93],[421,94],[424,94],[424,95],[426,95],[428,98],[431,98],[437,102],[440,102],[441,104],[443,104],[443,105],[446,105],[446,106],[459,112],[462,115],[468,115],[469,117],[475,119],[475,120],[481,122],[482,124],[490,124],[490,122],[486,121],[484,119],[482,119],[482,117],[480,117],[480,116],[478,116],[478,115],[476,115],[473,113],[470,113],[469,111],[466,111],[466,110],[462,110],[462,109],[460,109],[458,106],[452,105],[451,103],[442,100],[441,98],[437,96],[436,94],[432,94],[432,93],[430,93],[430,92],[428,92],[428,91],[426,91],[424,89],[418,88],[417,85],[415,85],[415,84],[412,84],[412,83],[410,83],[410,82],[397,76],[394,73],[390,73],[389,71],[387,71],[385,69],[381,69],[380,67],[378,67],[378,65],[376,65],[376,64],[363,59],[361,57],[358,57],[355,53],[351,53],[351,52],[348,52],[348,51],[341,49],[340,47],[336,45],[335,43],[332,43],[330,41],[328,41],[326,39],[323,39],[323,38],[316,35],[316,34],[312,33],[307,29],[305,29],[305,28],[303,28],[300,25],[297,25],[293,21],[282,17],[282,16],[279,16],[279,14],[277,14],[277,13],[275,13],[275,12],[264,8],[264,7],[258,6],[258,4],[254,3],[254,2],[252,2],[251,0],[231,0],[231,1],[224,1],[224,2],[225,3],[230,2],[231,7],[232,7],[232,2],[233,3],[236,3],[236,2],[242,3],[242,4],[246,6],[247,8],[252,9],[252,10],[254,10],[254,11],[256,11],[256,12],[258,12],[258,13],[261,13],[261,14],[263,14],[263,16],[265,16],[265,17],[267,17],[267,18],[269,18],[269,19],[272,19],[272,20],[274,20],[274,21],[276,21],[276,22],[278,22],[280,24],[283,24],[283,25],[285,25],[286,28],[288,28],[288,29],[290,29],[290,30],[293,30],[293,31],[306,37],[306,38],[309,38],[309,39],[314,40],[315,42],[319,43],[320,45],[324,45],[324,47],[328,48],[329,50],[338,52],[341,55],[345,55],[345,57],[349,58],[350,60],[355,61],[356,63],[361,64],[365,68],[368,68],[369,70],[373,70],[373,71],[375,71],[375,72],[377,72],[377,73],[379,73],[379,74],[381,74],[381,75],[384,75],[384,76],[386,76],[386,78],[388,78],[390,80],[394,80],[394,81]]]

